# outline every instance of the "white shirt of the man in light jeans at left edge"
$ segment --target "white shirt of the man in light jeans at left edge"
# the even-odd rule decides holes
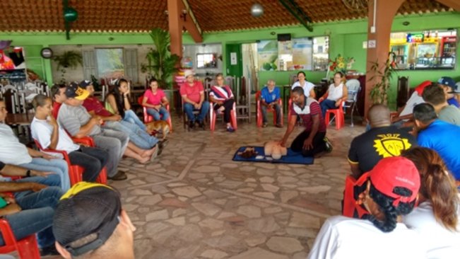
[[[19,142],[13,129],[3,123],[0,123],[0,161],[15,166],[32,162],[27,147]]]

